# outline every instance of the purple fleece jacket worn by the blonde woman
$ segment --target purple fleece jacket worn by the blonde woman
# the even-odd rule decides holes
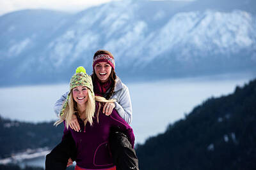
[[[66,138],[68,133],[72,134],[77,149],[76,164],[79,167],[87,169],[113,167],[113,160],[108,145],[109,132],[112,128],[124,132],[132,148],[134,147],[132,128],[118,115],[115,109],[109,116],[104,115],[101,109],[99,112],[99,123],[97,123],[96,118],[93,118],[93,125],[91,126],[87,123],[85,129],[82,120],[78,120],[81,132],[65,127],[62,139]]]

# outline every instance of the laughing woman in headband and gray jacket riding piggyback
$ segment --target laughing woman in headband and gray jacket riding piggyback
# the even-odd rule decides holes
[[[115,59],[106,50],[98,50],[93,56],[93,90],[96,96],[103,96],[106,99],[115,99],[113,103],[105,103],[103,113],[110,115],[112,110],[118,112],[125,122],[131,124],[132,106],[131,97],[127,86],[122,83],[115,73]],[[59,114],[67,93],[61,96],[54,106],[54,111]],[[70,127],[76,131],[80,130],[76,115],[72,116]],[[111,133],[109,138],[113,161],[117,169],[138,169],[138,158],[135,150],[129,145],[127,137],[119,131]],[[74,160],[74,159],[73,159]],[[72,160],[69,160],[72,164]]]

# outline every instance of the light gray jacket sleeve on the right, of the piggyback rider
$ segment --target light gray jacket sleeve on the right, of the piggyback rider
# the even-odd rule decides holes
[[[121,91],[119,100],[115,102],[115,109],[117,113],[122,117],[125,122],[131,124],[132,122],[132,104],[129,89],[124,86],[124,89]]]

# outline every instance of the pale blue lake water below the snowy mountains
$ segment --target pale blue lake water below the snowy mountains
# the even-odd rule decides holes
[[[132,128],[136,143],[164,132],[173,123],[209,97],[234,92],[255,78],[252,74],[182,78],[144,83],[126,83],[132,100]],[[0,89],[2,117],[42,122],[56,120],[55,101],[68,90],[67,84],[37,85]],[[41,159],[28,160],[31,165],[42,165]],[[41,163],[38,163],[41,162]]]

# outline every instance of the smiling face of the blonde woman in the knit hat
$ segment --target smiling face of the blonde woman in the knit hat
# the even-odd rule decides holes
[[[88,89],[85,86],[77,86],[72,90],[72,96],[77,104],[85,104],[88,100]]]

